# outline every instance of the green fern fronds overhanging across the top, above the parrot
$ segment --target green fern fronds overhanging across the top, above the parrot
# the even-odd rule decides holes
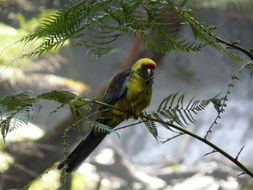
[[[177,16],[170,17],[168,12]],[[117,52],[113,42],[127,32],[140,34],[145,44],[162,53],[195,52],[209,44],[238,60],[215,40],[209,26],[195,20],[191,13],[183,6],[176,7],[171,0],[80,1],[48,17],[21,42],[43,40],[32,52],[25,54],[29,58],[55,49],[68,39],[73,39],[74,44],[84,45],[88,53],[100,57]],[[198,39],[188,39],[175,32],[175,23],[180,27],[183,22],[192,27]]]

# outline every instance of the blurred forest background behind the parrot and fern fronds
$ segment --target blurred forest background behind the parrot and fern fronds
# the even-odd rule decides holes
[[[71,41],[63,47],[35,60],[20,58],[36,47],[18,41],[31,32],[46,16],[64,8],[68,0],[0,0],[0,95],[23,91],[39,94],[53,89],[71,90],[86,97],[101,92],[116,73],[139,57],[157,61],[152,105],[172,92],[186,93],[188,99],[211,98],[225,92],[230,76],[240,67],[229,57],[210,47],[197,53],[162,55],[144,47],[138,36],[125,35],[115,43],[119,53],[95,59],[82,46]],[[251,0],[193,0],[188,6],[196,17],[218,27],[217,34],[232,41],[240,40],[247,49],[253,47],[253,2]],[[178,26],[177,32],[189,34],[189,28]],[[34,45],[34,46],[33,46]],[[238,52],[236,52],[238,53]],[[239,53],[238,53],[239,54]],[[243,55],[242,55],[243,56]],[[229,96],[222,119],[209,139],[229,154],[240,154],[253,168],[253,85],[249,72],[243,72]],[[44,101],[32,122],[8,134],[0,141],[0,189],[18,189],[35,179],[31,190],[55,190],[67,181],[71,190],[166,189],[166,190],[251,190],[252,178],[238,176],[241,171],[218,153],[190,137],[182,136],[165,144],[158,143],[144,125],[109,135],[72,176],[64,176],[54,168],[63,158],[63,133],[71,123],[67,107],[49,114],[58,104]],[[204,136],[216,117],[213,106],[198,115],[197,125],[189,130]],[[134,121],[122,123],[124,126]],[[69,148],[78,143],[87,129],[68,134]],[[161,138],[173,136],[159,130]],[[49,169],[48,169],[49,168]]]

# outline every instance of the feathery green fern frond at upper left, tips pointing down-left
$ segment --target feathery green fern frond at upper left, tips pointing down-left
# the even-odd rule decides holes
[[[24,36],[21,42],[28,43],[36,39],[43,39],[40,46],[24,57],[31,58],[47,53],[52,49],[63,45],[68,39],[79,34],[83,30],[85,17],[87,16],[91,3],[78,2],[64,11],[59,11],[48,17],[31,34]],[[85,35],[85,34],[83,34]]]

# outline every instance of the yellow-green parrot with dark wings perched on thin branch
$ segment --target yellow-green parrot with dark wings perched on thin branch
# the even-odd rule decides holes
[[[138,118],[141,111],[150,104],[155,67],[156,63],[153,60],[143,58],[139,59],[130,69],[117,74],[112,79],[102,102],[113,105],[123,112],[101,106],[99,108],[101,114],[96,122],[114,128],[130,117]],[[58,165],[58,169],[65,168],[66,172],[72,172],[106,135],[106,133],[92,129],[66,160]]]

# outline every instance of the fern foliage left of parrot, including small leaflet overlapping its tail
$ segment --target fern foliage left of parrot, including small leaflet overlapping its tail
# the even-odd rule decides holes
[[[30,96],[28,93],[20,93],[0,98],[0,114],[2,117],[0,120],[0,128],[4,140],[8,132],[21,126],[23,123],[27,123],[32,119],[34,114],[39,112],[41,100],[51,100],[61,104],[61,106],[56,108],[52,113],[58,111],[64,105],[68,105],[73,114],[73,125],[76,125],[80,121],[86,121],[91,124],[91,128],[98,131],[105,133],[113,131],[110,127],[95,122],[90,118],[89,114],[94,114],[91,112],[91,99],[82,98],[69,91],[54,90],[38,96]],[[86,111],[85,113],[87,113],[87,115],[83,114],[84,111]]]

